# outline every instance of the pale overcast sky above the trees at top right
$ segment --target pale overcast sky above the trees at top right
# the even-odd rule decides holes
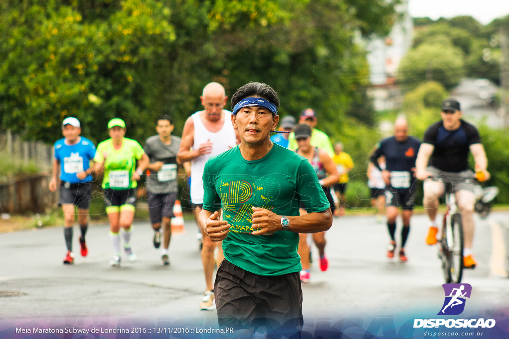
[[[493,19],[509,15],[509,0],[409,0],[410,16],[414,18],[453,18],[470,15],[486,25]]]

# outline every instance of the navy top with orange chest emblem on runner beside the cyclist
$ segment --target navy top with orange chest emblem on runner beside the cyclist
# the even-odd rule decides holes
[[[385,166],[388,171],[411,172],[411,169],[415,167],[419,146],[419,140],[413,137],[408,137],[407,140],[402,142],[390,137],[380,142],[380,146],[373,153],[371,161],[376,165],[377,159],[385,156]]]

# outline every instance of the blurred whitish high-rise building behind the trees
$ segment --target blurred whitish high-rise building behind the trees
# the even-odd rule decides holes
[[[403,56],[412,44],[413,25],[408,13],[408,0],[397,7],[400,20],[386,38],[375,38],[366,43],[367,61],[370,64],[370,97],[376,110],[398,108],[401,93],[395,78]]]

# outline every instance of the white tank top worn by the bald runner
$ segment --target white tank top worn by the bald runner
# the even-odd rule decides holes
[[[203,204],[203,169],[209,158],[233,148],[237,144],[235,130],[232,125],[232,112],[224,110],[224,124],[217,132],[209,131],[200,118],[200,112],[196,112],[192,117],[194,122],[194,144],[193,149],[200,148],[200,145],[207,140],[212,142],[212,152],[194,158],[191,161],[191,201],[195,205]]]

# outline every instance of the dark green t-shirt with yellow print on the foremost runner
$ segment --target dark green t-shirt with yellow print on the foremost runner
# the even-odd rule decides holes
[[[277,231],[252,235],[252,206],[278,215],[299,215],[302,201],[308,213],[322,212],[329,202],[309,162],[274,144],[260,160],[242,158],[239,146],[212,157],[205,164],[203,208],[222,208],[223,220],[232,227],[223,240],[224,257],[259,275],[283,275],[301,270],[297,254],[299,234]],[[254,227],[253,227],[254,226]]]

